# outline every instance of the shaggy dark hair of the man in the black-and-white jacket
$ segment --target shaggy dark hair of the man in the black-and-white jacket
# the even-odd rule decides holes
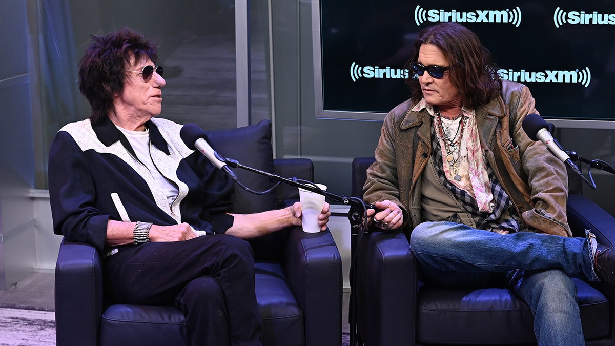
[[[92,124],[115,111],[113,99],[124,91],[126,66],[148,57],[155,64],[156,46],[137,31],[122,28],[107,36],[90,36],[92,43],[79,64],[79,91],[90,102]]]

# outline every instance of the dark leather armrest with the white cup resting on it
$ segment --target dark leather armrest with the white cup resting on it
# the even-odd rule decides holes
[[[330,231],[289,230],[285,274],[303,310],[306,346],[341,345],[342,261]]]

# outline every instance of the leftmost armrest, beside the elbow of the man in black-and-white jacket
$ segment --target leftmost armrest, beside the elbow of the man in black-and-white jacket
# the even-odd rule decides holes
[[[63,239],[55,265],[57,345],[98,345],[102,308],[100,255],[89,244]]]

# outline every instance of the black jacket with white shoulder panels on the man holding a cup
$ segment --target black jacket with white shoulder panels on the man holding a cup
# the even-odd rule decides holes
[[[67,124],[55,135],[49,152],[49,197],[54,233],[68,241],[103,250],[109,219],[189,223],[209,234],[232,225],[234,185],[199,152],[180,138],[181,125],[154,118],[149,153],[161,174],[178,188],[169,204],[164,191],[130,147],[124,134],[105,118]]]

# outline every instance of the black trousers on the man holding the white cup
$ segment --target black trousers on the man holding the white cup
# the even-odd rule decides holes
[[[105,275],[116,302],[180,308],[189,345],[261,345],[247,241],[210,235],[127,247],[105,259]]]

